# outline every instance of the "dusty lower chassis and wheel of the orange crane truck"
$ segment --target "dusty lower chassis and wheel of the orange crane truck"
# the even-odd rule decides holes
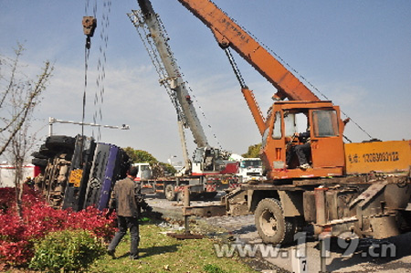
[[[292,184],[242,184],[223,197],[229,215],[253,213],[265,243],[292,240],[303,226],[314,233],[385,238],[411,229],[409,173],[370,173]]]

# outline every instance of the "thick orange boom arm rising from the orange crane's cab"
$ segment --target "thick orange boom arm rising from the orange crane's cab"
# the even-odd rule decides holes
[[[221,47],[232,47],[278,90],[278,100],[320,100],[300,79],[274,58],[247,31],[209,0],[178,0],[205,26],[208,26]]]

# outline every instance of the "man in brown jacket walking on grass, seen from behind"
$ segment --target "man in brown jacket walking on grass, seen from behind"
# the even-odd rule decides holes
[[[118,181],[114,185],[114,189],[111,192],[111,199],[109,203],[110,215],[113,209],[117,213],[117,221],[119,231],[116,232],[109,245],[108,253],[114,257],[114,252],[119,245],[123,236],[126,235],[127,229],[130,229],[130,236],[132,238],[130,248],[130,258],[137,259],[139,257],[139,223],[138,217],[140,214],[140,206],[146,210],[150,210],[144,200],[142,199],[140,184],[134,182],[134,179],[138,173],[136,167],[131,167],[127,173],[127,177]]]

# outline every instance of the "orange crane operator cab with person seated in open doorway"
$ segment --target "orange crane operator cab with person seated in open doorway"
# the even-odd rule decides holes
[[[342,175],[340,110],[331,101],[279,101],[269,110],[261,158],[272,180]]]

